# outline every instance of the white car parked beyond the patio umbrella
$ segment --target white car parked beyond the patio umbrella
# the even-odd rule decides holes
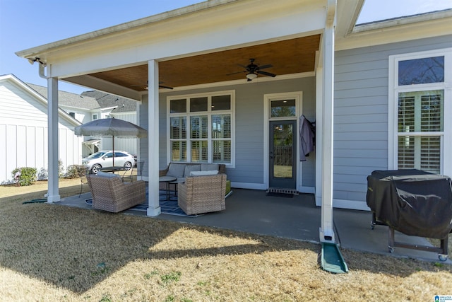
[[[114,151],[114,166],[130,169],[135,164],[135,157],[126,151]],[[99,151],[82,159],[82,165],[87,165],[91,173],[97,174],[101,168],[113,166],[113,151]]]

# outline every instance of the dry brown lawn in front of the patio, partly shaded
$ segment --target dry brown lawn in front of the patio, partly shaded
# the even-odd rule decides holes
[[[61,196],[79,180],[61,180]],[[85,190],[88,190],[88,186]],[[0,187],[1,301],[434,301],[452,267],[342,250],[348,274],[319,266],[320,246],[109,214],[42,198],[47,183]]]

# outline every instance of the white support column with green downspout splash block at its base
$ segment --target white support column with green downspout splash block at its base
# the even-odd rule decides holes
[[[333,117],[335,1],[328,0],[323,33],[321,242],[335,243],[333,228]]]

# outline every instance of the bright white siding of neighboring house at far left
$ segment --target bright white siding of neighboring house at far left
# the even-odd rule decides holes
[[[47,103],[24,87],[13,79],[0,81],[0,183],[11,181],[11,171],[20,167],[37,168],[40,179],[47,178]],[[60,118],[59,159],[65,168],[81,158],[73,127]]]

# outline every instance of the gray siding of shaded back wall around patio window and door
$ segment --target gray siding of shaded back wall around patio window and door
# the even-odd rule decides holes
[[[314,77],[282,81],[244,83],[236,86],[174,91],[160,94],[159,152],[160,168],[167,165],[167,97],[170,95],[189,95],[216,91],[235,91],[235,168],[227,168],[227,178],[242,187],[263,188],[264,120],[263,99],[268,93],[303,91],[303,113],[309,120],[315,117],[315,79]],[[141,106],[142,126],[147,128],[143,118],[148,112],[148,103]],[[146,123],[146,124],[144,124]],[[265,126],[267,127],[267,126]],[[141,154],[148,153],[147,139],[141,139]],[[303,165],[304,187],[315,187],[315,153]]]

